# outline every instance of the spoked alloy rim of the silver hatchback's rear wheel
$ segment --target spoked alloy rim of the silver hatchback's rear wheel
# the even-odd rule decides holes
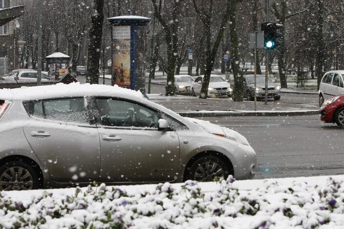
[[[0,176],[0,190],[29,190],[33,187],[30,172],[19,166],[6,169]]]

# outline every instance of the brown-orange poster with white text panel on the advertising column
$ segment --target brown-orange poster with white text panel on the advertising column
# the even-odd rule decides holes
[[[130,88],[130,26],[113,26],[113,83]]]

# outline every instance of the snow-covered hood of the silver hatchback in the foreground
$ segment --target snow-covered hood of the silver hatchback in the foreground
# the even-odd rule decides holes
[[[248,146],[250,145],[250,143],[248,142],[246,137],[240,135],[239,133],[237,133],[234,130],[231,130],[231,129],[226,128],[226,127],[221,127],[221,126],[215,125],[209,121],[204,121],[204,120],[200,120],[200,119],[196,119],[196,118],[188,118],[188,117],[185,117],[185,118],[188,119],[189,121],[192,121],[192,122],[198,124],[199,126],[201,126],[205,131],[209,132],[210,134],[215,134],[215,135],[220,136],[220,137],[223,136],[227,139],[236,141],[237,143],[240,143],[243,145],[248,145]]]

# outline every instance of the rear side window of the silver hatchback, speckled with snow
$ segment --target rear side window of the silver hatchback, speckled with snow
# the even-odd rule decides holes
[[[32,115],[57,121],[88,123],[84,100],[67,98],[35,101]]]

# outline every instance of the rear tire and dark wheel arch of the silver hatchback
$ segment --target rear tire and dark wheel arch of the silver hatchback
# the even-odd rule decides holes
[[[0,191],[42,188],[42,179],[35,164],[9,161],[0,166]],[[8,183],[8,184],[6,184]]]

